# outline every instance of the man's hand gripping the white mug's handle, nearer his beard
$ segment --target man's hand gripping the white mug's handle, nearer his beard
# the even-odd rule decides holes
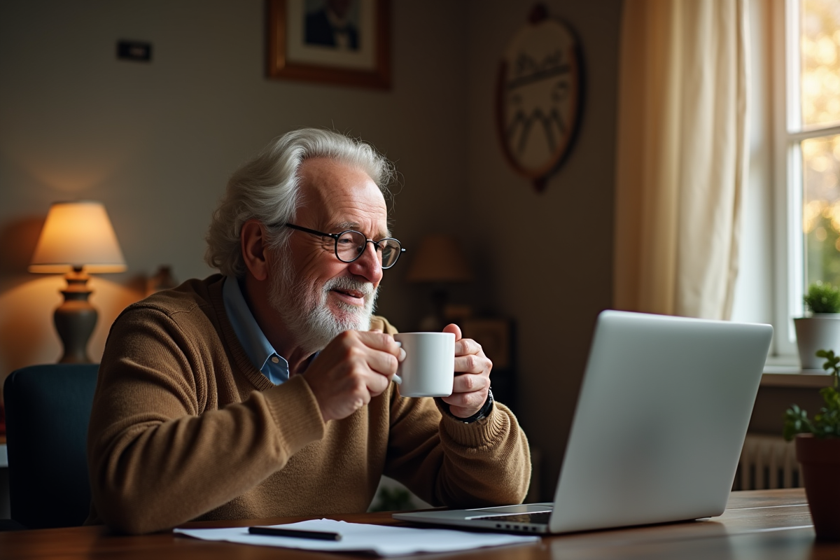
[[[323,421],[346,418],[381,395],[405,355],[384,332],[345,331],[333,338],[303,374]]]

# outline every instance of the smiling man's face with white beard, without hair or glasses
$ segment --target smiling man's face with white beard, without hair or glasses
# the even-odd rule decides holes
[[[385,198],[362,170],[335,160],[300,167],[302,206],[292,221],[324,233],[354,229],[369,239],[389,237]],[[352,263],[335,256],[333,238],[293,231],[270,271],[270,306],[309,352],[339,332],[367,330],[382,268],[372,243]]]

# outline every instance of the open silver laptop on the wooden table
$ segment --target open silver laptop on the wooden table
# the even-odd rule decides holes
[[[554,503],[394,517],[559,533],[719,516],[772,335],[769,325],[603,311]]]

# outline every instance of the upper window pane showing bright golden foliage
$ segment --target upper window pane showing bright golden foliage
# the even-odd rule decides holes
[[[840,2],[801,3],[802,123],[840,122]]]

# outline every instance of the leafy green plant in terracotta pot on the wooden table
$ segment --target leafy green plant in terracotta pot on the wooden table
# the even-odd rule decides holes
[[[799,406],[790,406],[785,411],[783,435],[789,442],[796,438],[796,460],[801,465],[816,537],[840,541],[840,484],[837,484],[840,475],[840,392],[837,391],[840,356],[835,356],[832,350],[819,350],[816,356],[825,359],[823,369],[831,369],[832,385],[820,390],[826,406],[814,415],[813,421]]]

